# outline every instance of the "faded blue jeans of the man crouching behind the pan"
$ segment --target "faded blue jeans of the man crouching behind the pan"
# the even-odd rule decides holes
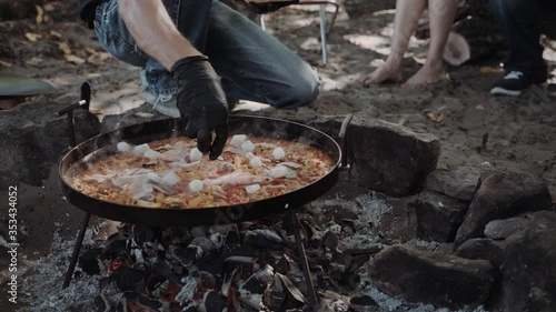
[[[193,3],[195,12],[186,16],[195,21],[178,29],[209,58],[228,101],[250,100],[292,109],[315,100],[321,85],[316,70],[276,38],[219,1],[181,1]],[[175,23],[183,24],[178,21],[180,1],[162,2]],[[143,69],[146,92],[162,100],[176,93],[170,72],[136,44],[118,13],[117,0],[105,0],[97,8],[95,31],[113,57]]]

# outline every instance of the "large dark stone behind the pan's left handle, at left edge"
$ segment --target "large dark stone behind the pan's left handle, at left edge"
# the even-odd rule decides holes
[[[68,119],[54,114],[62,108],[34,101],[0,111],[0,188],[20,182],[41,185],[47,179],[70,145]],[[82,109],[76,110],[75,124],[78,142],[100,132],[98,118]]]

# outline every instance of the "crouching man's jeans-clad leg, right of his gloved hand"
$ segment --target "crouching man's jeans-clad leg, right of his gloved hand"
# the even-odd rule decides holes
[[[310,103],[320,79],[314,68],[259,26],[215,1],[206,54],[222,78],[228,100],[291,109]]]

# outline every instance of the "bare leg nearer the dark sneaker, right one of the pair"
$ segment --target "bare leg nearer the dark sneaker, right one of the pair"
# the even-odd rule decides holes
[[[446,79],[444,49],[456,16],[457,0],[428,0],[430,40],[427,60],[423,68],[405,83],[409,87],[425,85]]]

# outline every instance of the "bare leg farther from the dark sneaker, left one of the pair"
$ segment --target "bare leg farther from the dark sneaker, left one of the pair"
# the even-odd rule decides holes
[[[397,0],[396,16],[394,17],[394,34],[391,38],[390,54],[386,62],[364,79],[365,84],[383,83],[385,81],[399,82],[403,79],[401,64],[407,44],[417,22],[427,4],[427,0]]]

